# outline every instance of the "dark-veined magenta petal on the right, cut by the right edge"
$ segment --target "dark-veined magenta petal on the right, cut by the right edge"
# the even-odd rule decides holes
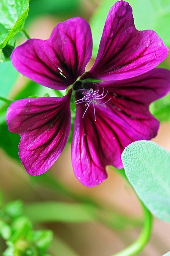
[[[170,71],[155,68],[149,72],[114,82],[102,82],[108,90],[106,108],[127,122],[141,137],[150,140],[158,132],[159,122],[149,112],[149,104],[170,92]]]

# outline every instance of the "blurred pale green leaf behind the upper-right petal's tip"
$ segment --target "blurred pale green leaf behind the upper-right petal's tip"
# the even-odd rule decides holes
[[[93,36],[93,58],[97,56],[105,20],[116,0],[103,0],[91,17]],[[134,24],[138,30],[154,30],[167,46],[170,46],[170,4],[168,0],[134,1],[128,0],[132,7]]]

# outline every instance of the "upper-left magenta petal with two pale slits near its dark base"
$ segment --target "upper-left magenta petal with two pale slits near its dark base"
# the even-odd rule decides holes
[[[64,90],[85,71],[91,53],[90,26],[77,17],[59,23],[48,40],[30,39],[18,46],[11,60],[24,76]]]

